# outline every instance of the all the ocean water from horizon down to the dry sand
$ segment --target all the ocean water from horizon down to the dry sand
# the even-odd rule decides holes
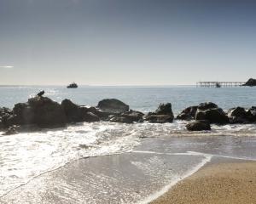
[[[256,106],[256,88],[195,86],[0,87],[0,106],[12,108],[41,90],[57,102],[71,99],[79,105],[96,106],[101,99],[120,99],[132,110],[145,113],[167,102],[172,103],[175,115],[190,105],[206,101],[212,101],[224,110],[236,106]],[[212,131],[191,133],[185,129],[185,123],[81,122],[36,133],[9,136],[0,133],[0,202],[9,203],[17,195],[19,199],[16,202],[12,200],[12,203],[25,203],[26,196],[23,194],[33,188],[33,184],[42,184],[40,179],[49,178],[50,173],[72,169],[70,165],[82,166],[87,180],[81,179],[84,183],[79,185],[78,182],[73,189],[70,188],[70,178],[64,182],[61,177],[56,183],[47,184],[47,188],[58,184],[65,186],[66,191],[61,191],[62,194],[55,198],[61,203],[146,203],[166,186],[194,173],[212,156],[256,160],[256,124],[212,125]],[[81,163],[78,165],[81,160],[88,162],[90,167]],[[55,178],[56,175],[52,180]],[[94,183],[88,181],[92,178]],[[65,184],[61,184],[60,180]],[[145,186],[148,190],[142,191]],[[77,195],[79,188],[81,191],[84,188],[90,190],[82,196]],[[101,194],[94,195],[95,190]],[[55,192],[60,193],[58,190]],[[36,192],[32,193],[34,202],[31,203],[36,203],[39,196]],[[44,203],[52,203],[52,200]]]

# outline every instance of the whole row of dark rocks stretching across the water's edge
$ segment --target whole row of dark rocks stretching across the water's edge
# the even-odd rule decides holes
[[[0,108],[0,129],[6,134],[20,131],[37,130],[44,127],[63,127],[71,122],[173,122],[171,103],[160,104],[154,112],[144,115],[140,111],[130,110],[129,105],[119,99],[103,99],[96,107],[76,105],[69,99],[61,104],[44,96],[37,95],[26,103],[16,104],[13,110]],[[179,113],[178,120],[189,121],[189,131],[210,130],[211,124],[256,122],[256,107],[232,108],[224,112],[212,102],[189,106]]]

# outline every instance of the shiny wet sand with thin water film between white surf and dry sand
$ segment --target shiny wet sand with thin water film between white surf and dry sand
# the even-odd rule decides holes
[[[232,137],[146,138],[131,152],[68,162],[9,191],[0,202],[150,203],[205,167],[254,160],[255,142]],[[230,144],[231,155],[226,152]]]

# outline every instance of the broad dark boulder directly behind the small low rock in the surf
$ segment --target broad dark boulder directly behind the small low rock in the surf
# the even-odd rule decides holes
[[[207,110],[197,109],[195,120],[207,120],[210,123],[226,124],[229,122],[228,116],[225,115],[221,108],[210,108]]]

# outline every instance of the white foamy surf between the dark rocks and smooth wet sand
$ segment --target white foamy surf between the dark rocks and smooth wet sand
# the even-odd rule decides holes
[[[61,167],[69,161],[81,157],[130,151],[143,138],[256,135],[256,127],[253,124],[213,125],[212,131],[193,133],[186,130],[185,124],[186,122],[181,121],[165,124],[84,122],[38,133],[2,135],[0,136],[0,185],[2,187],[0,195],[20,184],[25,184],[29,179],[41,173]]]

